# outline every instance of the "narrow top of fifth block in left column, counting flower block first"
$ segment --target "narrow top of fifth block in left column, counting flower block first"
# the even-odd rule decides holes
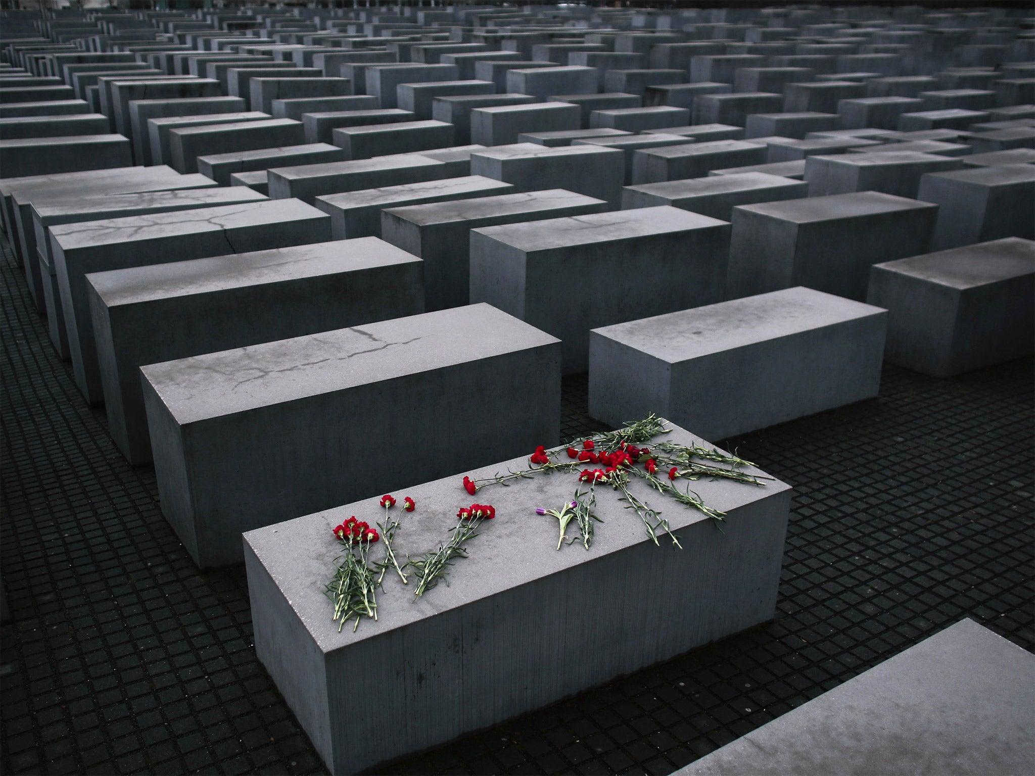
[[[267,198],[245,186],[177,188],[164,191],[68,197],[61,200],[42,200],[33,203],[32,209],[45,226],[65,223],[68,219],[100,220],[114,217],[119,211],[177,210],[190,207],[217,207],[242,202],[262,202]],[[235,190],[241,189],[241,190]],[[109,215],[109,213],[113,215]],[[125,215],[125,214],[123,214]]]

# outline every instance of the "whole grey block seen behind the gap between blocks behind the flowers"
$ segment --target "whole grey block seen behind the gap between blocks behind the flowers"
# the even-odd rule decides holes
[[[590,329],[719,301],[729,235],[726,221],[673,207],[475,229],[471,301],[563,339],[562,369],[578,374]]]

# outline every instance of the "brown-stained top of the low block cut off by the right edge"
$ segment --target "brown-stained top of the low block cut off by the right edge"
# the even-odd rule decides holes
[[[911,256],[875,265],[952,289],[972,289],[1035,273],[1035,242],[1019,237]]]

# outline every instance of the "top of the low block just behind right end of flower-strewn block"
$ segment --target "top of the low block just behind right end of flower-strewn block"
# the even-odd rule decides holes
[[[674,364],[884,311],[799,286],[593,331]]]

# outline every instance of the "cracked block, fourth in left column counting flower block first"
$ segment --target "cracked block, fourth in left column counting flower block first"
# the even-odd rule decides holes
[[[76,385],[103,400],[85,277],[90,272],[325,242],[330,216],[285,200],[51,227]]]

